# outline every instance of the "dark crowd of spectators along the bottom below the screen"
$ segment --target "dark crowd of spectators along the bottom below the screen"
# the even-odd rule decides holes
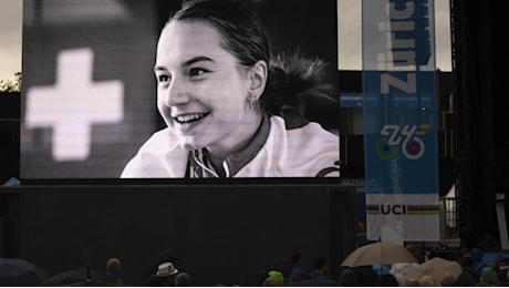
[[[406,247],[416,256],[418,263],[385,264],[388,270],[376,270],[377,265],[356,267],[331,267],[328,257],[316,256],[314,261],[308,261],[307,256],[294,253],[289,257],[279,257],[264,261],[247,271],[246,284],[210,282],[210,287],[219,286],[251,286],[251,287],[485,287],[509,286],[509,258],[496,256],[492,263],[486,263],[480,249],[475,248],[461,253],[456,259],[444,259],[438,256],[423,257],[422,249]],[[172,249],[169,249],[172,251]],[[159,254],[152,258],[142,270],[149,276],[142,286],[147,287],[189,287],[195,285],[193,271],[179,269],[177,257],[170,259],[172,253]],[[437,261],[438,260],[440,261]],[[420,267],[435,261],[443,264],[433,270]],[[447,264],[447,265],[444,265]],[[478,268],[479,267],[479,268]],[[476,269],[478,268],[478,269]],[[6,268],[4,268],[6,269]],[[148,269],[148,270],[147,270]],[[152,270],[150,270],[152,269]],[[2,267],[0,267],[0,271]],[[334,271],[335,270],[335,271]],[[479,270],[477,272],[477,270]],[[334,276],[333,276],[334,275]],[[41,279],[37,286],[134,286],[125,281],[122,261],[117,257],[108,258],[103,271],[85,267],[82,269],[58,272],[48,279]],[[204,282],[202,279],[199,279]],[[27,282],[27,281],[25,281]],[[229,279],[225,279],[229,282]],[[0,286],[6,286],[0,278]],[[23,286],[13,285],[10,286]],[[33,284],[33,282],[32,282]],[[202,285],[201,285],[202,286]]]

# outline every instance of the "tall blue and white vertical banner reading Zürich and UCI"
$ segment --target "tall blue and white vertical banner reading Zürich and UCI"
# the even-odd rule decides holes
[[[433,0],[363,0],[367,239],[438,240]]]

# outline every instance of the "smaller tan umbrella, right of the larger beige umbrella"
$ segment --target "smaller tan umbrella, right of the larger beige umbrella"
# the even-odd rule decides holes
[[[461,266],[457,261],[434,257],[419,266],[412,268],[408,272],[408,278],[419,279],[420,277],[427,275],[433,277],[433,281],[435,284],[440,284],[447,272],[458,277],[461,272]]]

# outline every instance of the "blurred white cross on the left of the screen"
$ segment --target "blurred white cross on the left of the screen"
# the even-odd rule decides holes
[[[121,81],[93,82],[91,49],[64,50],[58,55],[56,83],[27,93],[28,128],[52,127],[55,161],[89,157],[93,124],[117,123],[124,117]]]

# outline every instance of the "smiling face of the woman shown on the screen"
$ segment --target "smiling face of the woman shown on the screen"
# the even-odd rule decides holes
[[[231,148],[254,120],[248,71],[221,39],[205,21],[173,21],[159,38],[157,107],[186,150]]]

